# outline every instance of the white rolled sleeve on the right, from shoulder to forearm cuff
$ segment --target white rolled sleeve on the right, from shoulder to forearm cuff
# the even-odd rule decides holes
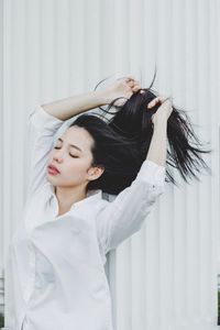
[[[164,189],[165,167],[145,160],[131,186],[98,212],[98,238],[105,253],[141,229]]]

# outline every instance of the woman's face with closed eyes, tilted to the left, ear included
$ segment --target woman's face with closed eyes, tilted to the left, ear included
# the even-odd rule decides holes
[[[87,185],[102,174],[99,167],[91,167],[92,138],[79,127],[70,127],[56,140],[50,153],[48,164],[55,166],[59,173],[53,175],[47,168],[47,180],[54,186],[74,187]]]

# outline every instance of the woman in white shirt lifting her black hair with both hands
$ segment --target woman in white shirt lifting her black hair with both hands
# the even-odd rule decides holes
[[[113,120],[80,114],[54,141],[66,120],[103,105],[120,108]],[[169,99],[125,77],[31,113],[30,183],[9,248],[4,329],[113,329],[106,254],[141,229],[164,191],[167,132],[176,130],[169,157],[179,170],[187,176],[193,161],[202,164],[179,113],[167,130],[173,112]]]

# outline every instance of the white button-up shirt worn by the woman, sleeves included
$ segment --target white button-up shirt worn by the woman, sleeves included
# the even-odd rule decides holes
[[[113,201],[90,190],[56,217],[46,166],[63,123],[42,107],[29,117],[29,193],[9,245],[3,329],[112,330],[106,254],[141,229],[164,191],[165,167],[145,160]]]

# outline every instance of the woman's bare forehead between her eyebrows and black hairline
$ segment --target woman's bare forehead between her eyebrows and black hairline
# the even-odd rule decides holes
[[[82,152],[90,151],[94,142],[91,135],[86,131],[86,129],[76,125],[67,128],[67,130],[58,138],[61,138],[66,144],[77,145],[82,150]]]

